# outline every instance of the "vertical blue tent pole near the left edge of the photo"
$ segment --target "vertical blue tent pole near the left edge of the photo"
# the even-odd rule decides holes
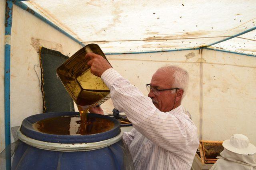
[[[5,126],[5,149],[6,170],[11,169],[10,154],[10,51],[12,29],[12,0],[6,0],[5,7],[5,40],[4,40],[4,126]]]

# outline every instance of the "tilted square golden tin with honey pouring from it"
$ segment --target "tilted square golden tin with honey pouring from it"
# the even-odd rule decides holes
[[[85,131],[86,125],[90,124],[87,121],[90,107],[98,106],[110,98],[110,90],[106,84],[90,72],[88,59],[85,59],[85,55],[90,52],[106,59],[98,45],[88,44],[57,68],[62,84],[78,107],[81,117],[80,131]]]

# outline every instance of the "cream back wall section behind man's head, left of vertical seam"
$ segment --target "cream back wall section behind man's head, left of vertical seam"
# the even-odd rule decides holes
[[[190,76],[187,94],[182,105],[192,115],[192,120],[198,128],[199,136],[199,64],[198,50],[175,51],[164,53],[107,55],[108,61],[124,78],[137,86],[144,95],[148,95],[145,84],[150,83],[154,72],[168,64],[186,69]],[[111,100],[102,104],[104,113],[112,113],[114,108]]]

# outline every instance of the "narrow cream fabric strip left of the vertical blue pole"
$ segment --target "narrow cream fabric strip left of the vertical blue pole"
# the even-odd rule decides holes
[[[5,148],[4,142],[4,16],[5,0],[0,0],[0,152]],[[0,163],[1,164],[1,163]]]

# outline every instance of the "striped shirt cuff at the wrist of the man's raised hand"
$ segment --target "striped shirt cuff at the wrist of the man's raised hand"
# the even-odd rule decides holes
[[[122,78],[122,76],[116,71],[114,70],[114,68],[108,68],[108,70],[104,71],[100,77],[104,83],[108,86],[108,88],[110,89],[110,87],[112,86],[112,84],[118,79],[118,78]]]

